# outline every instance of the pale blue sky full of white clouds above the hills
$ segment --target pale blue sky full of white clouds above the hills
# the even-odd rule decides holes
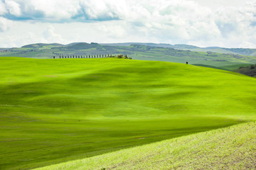
[[[256,48],[256,0],[0,0],[0,47],[36,42]]]

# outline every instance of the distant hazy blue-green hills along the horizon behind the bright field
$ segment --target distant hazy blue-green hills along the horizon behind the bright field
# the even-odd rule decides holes
[[[196,51],[195,49],[198,49]],[[255,64],[256,58],[249,56],[247,49],[240,49],[243,53],[238,53],[238,50],[230,50],[227,52],[212,49],[200,50],[192,45],[168,45],[154,43],[117,43],[117,44],[97,44],[74,42],[68,45],[60,44],[33,44],[25,45],[21,48],[11,48],[5,52],[0,52],[0,57],[33,57],[33,58],[53,58],[59,56],[70,55],[117,55],[123,54],[132,57],[134,60],[151,60],[164,62],[179,62],[190,64],[210,65],[213,67],[237,66],[238,69],[246,64]]]

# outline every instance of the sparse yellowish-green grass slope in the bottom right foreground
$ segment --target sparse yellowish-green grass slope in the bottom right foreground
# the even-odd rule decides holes
[[[255,169],[255,139],[256,123],[245,123],[36,170]]]

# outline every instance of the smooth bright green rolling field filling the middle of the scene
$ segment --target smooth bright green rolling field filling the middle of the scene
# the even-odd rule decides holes
[[[233,72],[111,58],[1,57],[0,65],[0,169],[255,120],[256,79]]]

